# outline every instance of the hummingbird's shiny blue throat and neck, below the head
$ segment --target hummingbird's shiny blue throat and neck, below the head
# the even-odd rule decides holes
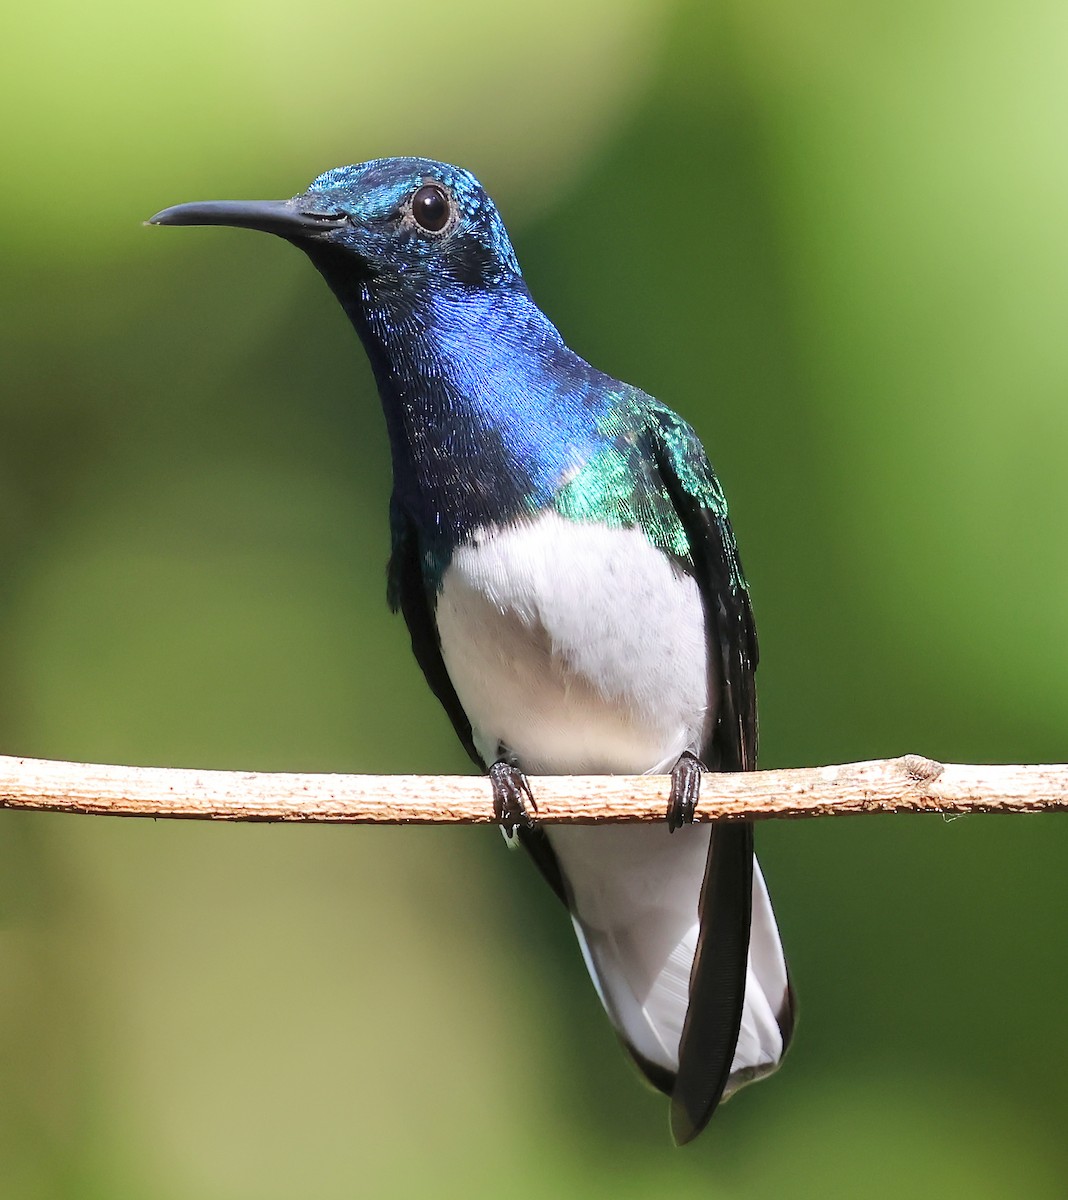
[[[394,504],[442,566],[475,528],[551,504],[604,443],[623,385],[568,349],[518,275],[413,287],[313,260],[374,372]]]

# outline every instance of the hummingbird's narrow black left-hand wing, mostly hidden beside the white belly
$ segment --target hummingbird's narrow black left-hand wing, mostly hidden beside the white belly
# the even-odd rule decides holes
[[[415,655],[415,661],[422,668],[431,691],[449,714],[449,720],[452,722],[452,728],[456,730],[456,736],[463,749],[467,750],[472,761],[485,770],[491,764],[482,762],[482,756],[475,749],[470,721],[460,703],[460,697],[449,678],[445,660],[442,658],[442,642],[438,637],[438,628],[434,624],[422,572],[419,536],[397,505],[390,510],[390,527],[394,550],[389,560],[386,584],[389,606],[394,612],[400,610],[403,616],[404,624],[412,636],[412,653]],[[523,850],[534,859],[534,864],[541,871],[545,881],[566,904],[560,868],[545,830],[539,827],[533,829],[520,827],[516,829],[516,836]]]

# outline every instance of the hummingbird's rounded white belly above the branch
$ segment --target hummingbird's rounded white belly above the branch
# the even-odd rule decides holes
[[[670,770],[714,719],[697,584],[640,529],[544,514],[476,534],[436,616],[487,764],[503,748],[530,774]]]

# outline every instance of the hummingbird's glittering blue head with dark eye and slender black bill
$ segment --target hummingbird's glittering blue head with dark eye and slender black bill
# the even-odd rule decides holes
[[[208,200],[157,212],[149,224],[239,226],[306,251],[324,274],[350,270],[396,288],[479,286],[518,276],[496,205],[460,167],[376,158],[335,167],[289,200]]]

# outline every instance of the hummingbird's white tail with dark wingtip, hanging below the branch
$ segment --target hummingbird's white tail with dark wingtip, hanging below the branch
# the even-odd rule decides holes
[[[752,857],[751,836],[739,840],[744,827],[721,828],[731,830],[730,838],[722,847],[713,846],[713,856],[708,854],[709,826],[689,826],[671,835],[656,827],[596,829],[595,870],[582,853],[586,833],[582,827],[570,827],[574,833],[581,830],[570,845],[566,836],[560,839],[563,828],[553,830],[554,850],[565,877],[584,883],[570,898],[571,916],[594,985],[642,1073],[672,1096],[672,1127],[679,1142],[703,1128],[720,1098],[775,1070],[793,1027],[786,959],[768,889]],[[739,845],[748,847],[744,865],[739,865]],[[732,853],[733,868],[725,862]],[[576,856],[586,859],[582,870],[569,870]],[[718,980],[715,971],[716,926],[730,930],[730,908],[720,922],[715,910],[721,914],[722,905],[704,905],[706,923],[712,918],[706,929],[707,941],[701,931],[706,862],[710,877],[716,856],[726,868],[725,893],[743,871],[748,881],[748,865],[752,865],[740,1021],[739,989],[730,979]],[[695,972],[698,943],[702,965]],[[722,942],[720,952],[727,959],[732,956],[731,947]],[[737,956],[737,947],[733,954]],[[718,1046],[726,1045],[730,1050],[730,1043],[733,1055],[730,1069],[724,1072],[715,1060],[727,1060]],[[716,1079],[710,1078],[713,1074]]]

